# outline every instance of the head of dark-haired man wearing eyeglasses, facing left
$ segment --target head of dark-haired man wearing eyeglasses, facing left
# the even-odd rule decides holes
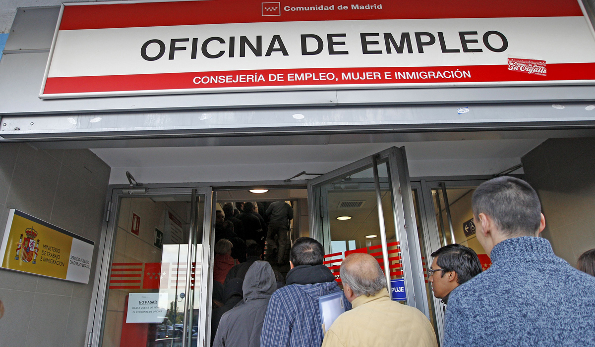
[[[446,245],[431,255],[434,260],[431,269],[428,270],[428,282],[432,283],[434,296],[444,304],[448,303],[453,289],[481,273],[480,260],[469,247],[459,244]]]

